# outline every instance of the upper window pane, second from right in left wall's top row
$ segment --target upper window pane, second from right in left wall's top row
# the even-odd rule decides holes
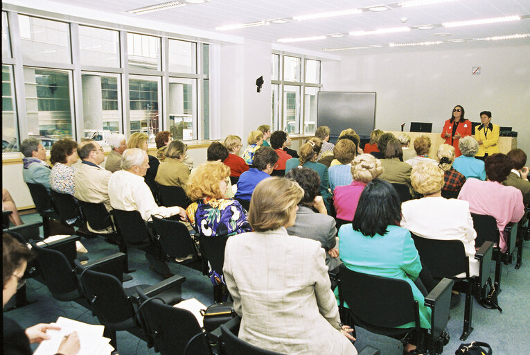
[[[129,68],[160,70],[160,38],[127,33]]]

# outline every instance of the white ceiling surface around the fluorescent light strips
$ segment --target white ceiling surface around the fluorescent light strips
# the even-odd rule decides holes
[[[276,18],[291,18],[296,15],[307,15],[315,12],[366,8],[376,5],[391,5],[398,0],[211,0],[201,4],[188,4],[179,8],[170,8],[145,15],[133,15],[127,10],[154,5],[168,0],[53,0],[73,6],[97,9],[134,18],[149,19],[168,24],[178,24],[191,28],[200,28],[215,32],[218,26],[249,23]],[[181,0],[184,2],[185,0]],[[458,28],[444,28],[443,22],[484,19],[520,15],[520,21],[501,24],[484,24]],[[402,23],[400,19],[407,21]],[[371,31],[377,28],[397,26],[439,25],[430,30],[414,29],[407,33],[367,35],[352,37],[351,31]],[[378,46],[360,50],[332,51],[337,55],[387,53],[389,51],[417,51],[425,49],[475,49],[487,46],[529,45],[530,37],[502,41],[472,41],[477,37],[492,37],[530,33],[530,0],[460,0],[452,3],[441,3],[414,8],[392,6],[384,12],[366,11],[357,15],[346,15],[328,19],[308,21],[290,21],[286,24],[270,24],[252,28],[240,28],[222,31],[254,40],[277,42],[285,37],[310,37],[344,33],[346,37],[326,37],[325,40],[295,42],[290,46],[322,51],[356,46]],[[447,37],[436,36],[436,33],[449,33]],[[389,47],[389,43],[448,41],[465,39],[466,42],[444,42],[434,46]]]

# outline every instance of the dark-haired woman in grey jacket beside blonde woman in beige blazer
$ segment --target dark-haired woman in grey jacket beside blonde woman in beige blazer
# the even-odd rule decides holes
[[[328,216],[322,196],[317,196],[320,178],[316,171],[310,168],[292,169],[285,178],[297,182],[303,189],[303,198],[298,204],[297,220],[287,228],[291,236],[315,239],[326,250],[326,266],[333,270],[340,264],[337,245],[337,228],[335,218]],[[315,213],[316,209],[318,213]]]

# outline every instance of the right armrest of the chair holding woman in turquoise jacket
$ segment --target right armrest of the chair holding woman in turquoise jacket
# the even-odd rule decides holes
[[[451,303],[451,290],[454,281],[444,277],[434,286],[432,291],[425,296],[425,306],[430,307],[431,332],[433,339],[441,336],[449,320],[449,306]]]

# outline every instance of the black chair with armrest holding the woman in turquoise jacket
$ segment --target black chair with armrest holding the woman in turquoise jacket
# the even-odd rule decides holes
[[[449,318],[451,288],[453,281],[442,279],[425,296],[425,305],[430,307],[431,327],[421,329],[418,301],[414,300],[408,282],[389,277],[368,275],[339,266],[339,300],[348,304],[348,314],[355,325],[376,334],[405,339],[416,331],[418,354],[441,354],[448,336],[445,327]],[[414,323],[411,328],[396,328]]]

